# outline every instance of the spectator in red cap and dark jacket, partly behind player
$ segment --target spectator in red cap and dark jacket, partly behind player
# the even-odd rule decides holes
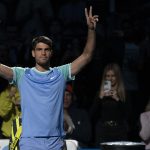
[[[74,139],[79,142],[80,147],[87,147],[91,140],[91,124],[85,110],[73,106],[73,90],[67,85],[64,94],[64,114],[70,116],[70,128],[66,123],[66,139]]]

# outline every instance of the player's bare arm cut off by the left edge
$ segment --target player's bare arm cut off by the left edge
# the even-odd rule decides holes
[[[13,79],[13,70],[8,66],[0,64],[0,77],[11,81]]]

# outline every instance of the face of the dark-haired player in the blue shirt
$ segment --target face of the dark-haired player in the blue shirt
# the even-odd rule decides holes
[[[32,50],[32,56],[38,65],[49,65],[52,49],[47,44],[40,42],[36,45],[35,49]]]

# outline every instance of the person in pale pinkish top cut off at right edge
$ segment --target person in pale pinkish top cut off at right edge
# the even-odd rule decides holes
[[[146,144],[145,149],[150,150],[150,101],[145,108],[145,112],[140,115],[140,124],[139,135]]]

